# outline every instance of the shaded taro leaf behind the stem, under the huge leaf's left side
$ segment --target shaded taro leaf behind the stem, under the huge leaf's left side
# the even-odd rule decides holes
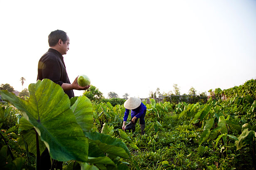
[[[37,155],[37,146],[36,146],[36,132],[34,130],[34,126],[31,125],[30,122],[25,120],[24,117],[20,119],[20,127],[19,127],[19,135],[17,138],[17,141],[19,145],[26,149],[26,144],[28,146],[28,151],[31,153],[34,153],[34,155]],[[43,141],[39,140],[39,151],[40,154],[44,151],[46,148]]]

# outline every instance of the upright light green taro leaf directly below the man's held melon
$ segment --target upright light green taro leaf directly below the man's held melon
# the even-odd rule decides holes
[[[76,122],[81,126],[83,131],[90,132],[94,125],[92,104],[86,96],[80,96],[71,106],[76,117]]]

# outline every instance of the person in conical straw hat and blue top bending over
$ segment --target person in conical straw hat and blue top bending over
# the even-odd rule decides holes
[[[140,119],[140,130],[141,134],[145,134],[145,115],[147,111],[147,107],[141,102],[140,98],[134,98],[130,97],[128,100],[125,101],[123,106],[126,108],[126,111],[124,113],[123,117],[123,126],[122,129],[125,130],[126,121],[128,119],[128,115],[131,110],[131,122],[137,123],[138,119]],[[132,132],[135,131],[135,126],[132,129]]]

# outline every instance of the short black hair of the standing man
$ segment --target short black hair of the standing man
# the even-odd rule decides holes
[[[52,31],[48,36],[49,46],[54,47],[58,43],[59,39],[61,39],[64,43],[66,43],[68,39],[66,36],[66,33],[59,29]]]

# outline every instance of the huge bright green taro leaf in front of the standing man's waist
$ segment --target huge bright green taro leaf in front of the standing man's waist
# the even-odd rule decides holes
[[[25,101],[6,90],[2,98],[22,111],[36,129],[50,156],[59,161],[87,161],[88,139],[76,122],[69,97],[61,86],[49,79],[29,86],[30,98]]]

